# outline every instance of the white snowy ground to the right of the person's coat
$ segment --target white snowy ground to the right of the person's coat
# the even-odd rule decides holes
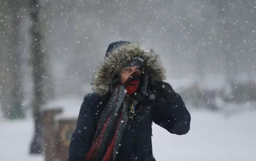
[[[153,125],[153,154],[167,161],[255,161],[256,111],[225,116],[191,112],[188,134],[174,135]]]

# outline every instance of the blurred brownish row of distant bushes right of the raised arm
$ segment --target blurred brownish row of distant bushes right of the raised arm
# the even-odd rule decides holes
[[[195,82],[180,90],[184,101],[190,103],[195,109],[225,111],[240,107],[233,105],[227,108],[228,104],[243,105],[248,102],[253,102],[253,104],[256,102],[256,85],[252,80],[246,82],[229,81],[223,88],[202,88],[199,82]],[[255,106],[251,108],[256,109]]]

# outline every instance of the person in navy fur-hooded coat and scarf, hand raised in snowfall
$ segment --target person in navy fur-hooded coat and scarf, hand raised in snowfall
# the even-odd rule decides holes
[[[190,114],[165,78],[152,49],[112,42],[81,105],[68,161],[155,161],[152,122],[188,133]]]

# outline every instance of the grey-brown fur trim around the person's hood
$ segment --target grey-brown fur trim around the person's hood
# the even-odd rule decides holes
[[[153,49],[146,50],[139,43],[126,43],[116,47],[108,53],[95,70],[92,80],[92,90],[100,96],[108,93],[113,78],[132,57],[140,57],[145,61],[148,78],[163,81],[166,78],[165,69],[159,56]]]

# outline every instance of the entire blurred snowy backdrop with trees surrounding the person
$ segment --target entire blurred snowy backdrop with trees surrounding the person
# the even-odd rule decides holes
[[[156,160],[256,160],[255,0],[0,0],[0,160],[66,159],[119,40],[160,55],[191,113],[184,136],[153,124]]]

